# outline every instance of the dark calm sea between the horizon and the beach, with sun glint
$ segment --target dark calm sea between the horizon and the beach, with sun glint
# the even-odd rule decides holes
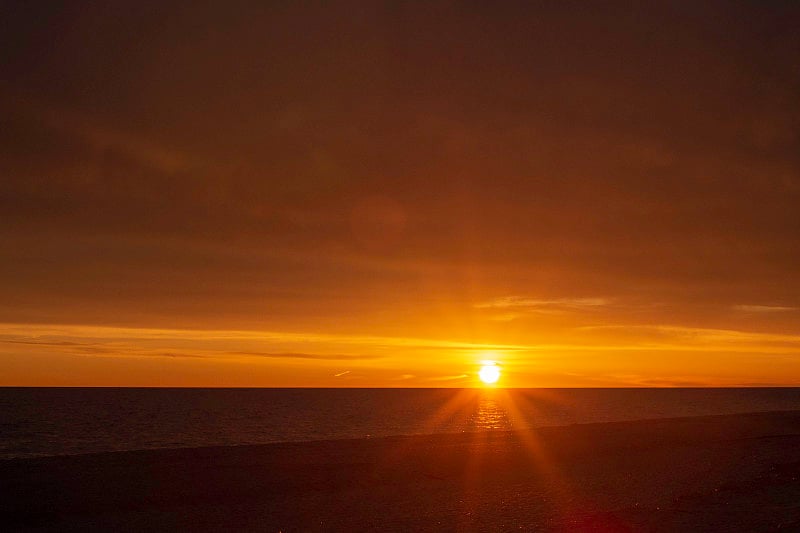
[[[800,409],[798,388],[0,388],[0,458]]]

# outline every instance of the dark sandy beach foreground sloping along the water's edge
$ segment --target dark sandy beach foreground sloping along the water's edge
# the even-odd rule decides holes
[[[800,412],[0,461],[0,529],[800,531]]]

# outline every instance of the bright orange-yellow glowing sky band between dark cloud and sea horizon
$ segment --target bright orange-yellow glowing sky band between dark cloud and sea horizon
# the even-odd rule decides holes
[[[503,387],[779,386],[800,375],[800,335],[657,328],[540,340],[0,324],[0,386],[477,387],[474,361],[494,366],[487,356],[502,357]]]

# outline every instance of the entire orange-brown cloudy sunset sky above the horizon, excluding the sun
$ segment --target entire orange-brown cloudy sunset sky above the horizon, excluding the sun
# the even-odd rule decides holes
[[[161,4],[0,1],[0,386],[800,385],[796,2]]]

